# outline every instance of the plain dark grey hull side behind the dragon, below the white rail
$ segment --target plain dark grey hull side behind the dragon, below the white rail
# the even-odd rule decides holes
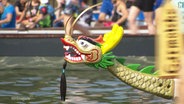
[[[63,56],[60,37],[0,38],[0,56]],[[154,56],[154,36],[125,35],[113,53],[116,56]]]

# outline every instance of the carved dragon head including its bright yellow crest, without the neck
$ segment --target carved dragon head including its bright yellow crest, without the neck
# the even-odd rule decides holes
[[[103,36],[93,39],[87,36],[79,36],[77,40],[71,35],[65,35],[61,38],[64,45],[64,59],[70,63],[97,64],[108,63],[109,51],[111,51],[120,42],[123,36],[123,28],[115,24],[112,30]],[[100,65],[103,66],[103,65]]]

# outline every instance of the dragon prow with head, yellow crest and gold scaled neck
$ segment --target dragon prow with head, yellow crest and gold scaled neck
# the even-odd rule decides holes
[[[123,28],[114,25],[112,31],[98,38],[71,35],[61,38],[65,52],[64,59],[73,64],[85,63],[97,69],[103,68],[111,72],[122,82],[142,91],[172,99],[174,98],[175,81],[162,79],[158,73],[153,73],[154,66],[137,70],[140,64],[126,65],[125,59],[118,58],[112,50],[123,37]]]

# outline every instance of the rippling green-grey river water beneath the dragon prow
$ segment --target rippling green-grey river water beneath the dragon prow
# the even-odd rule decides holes
[[[153,65],[153,57],[126,57]],[[62,57],[0,57],[0,104],[173,104],[136,90],[104,69],[67,65],[66,101],[60,101]]]

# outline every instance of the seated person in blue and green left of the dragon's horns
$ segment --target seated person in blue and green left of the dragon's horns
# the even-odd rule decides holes
[[[52,21],[55,19],[54,8],[49,4],[49,0],[40,0],[39,13],[30,18],[30,26],[28,28],[51,27]]]

